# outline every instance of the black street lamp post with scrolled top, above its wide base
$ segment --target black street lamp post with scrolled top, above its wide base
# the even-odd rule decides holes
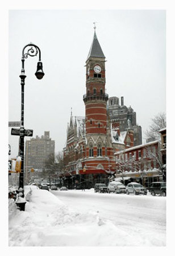
[[[25,50],[27,51],[25,53]],[[44,76],[43,72],[43,64],[41,63],[41,52],[38,46],[35,44],[27,44],[23,48],[22,51],[22,69],[21,69],[21,75],[20,77],[20,84],[21,84],[21,114],[20,114],[20,121],[21,121],[21,126],[19,129],[19,156],[21,157],[21,171],[19,174],[19,188],[24,187],[24,136],[26,135],[25,129],[24,129],[24,84],[25,84],[25,70],[24,70],[24,60],[27,59],[28,56],[34,57],[38,55],[39,52],[39,61],[37,65],[37,70],[35,73],[35,76],[37,79],[42,79]]]

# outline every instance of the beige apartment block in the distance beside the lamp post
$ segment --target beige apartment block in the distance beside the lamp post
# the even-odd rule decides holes
[[[34,170],[42,170],[45,160],[51,154],[55,154],[55,141],[49,138],[49,131],[44,131],[44,135],[31,138],[26,141],[25,151],[25,171],[26,174],[31,168]]]

